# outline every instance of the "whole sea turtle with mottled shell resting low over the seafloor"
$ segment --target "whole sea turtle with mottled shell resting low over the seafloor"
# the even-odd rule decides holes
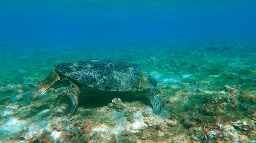
[[[104,91],[146,91],[153,106],[153,112],[159,114],[162,100],[157,86],[157,80],[144,75],[136,64],[111,60],[92,60],[60,63],[34,89],[34,99],[39,94],[52,87],[60,80],[68,80],[65,93],[69,95],[73,113],[78,104],[82,86]]]

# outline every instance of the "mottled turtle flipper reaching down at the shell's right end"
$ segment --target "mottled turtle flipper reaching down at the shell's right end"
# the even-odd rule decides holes
[[[162,110],[163,102],[160,95],[160,90],[153,85],[147,87],[148,98],[153,107],[153,112],[159,114]]]

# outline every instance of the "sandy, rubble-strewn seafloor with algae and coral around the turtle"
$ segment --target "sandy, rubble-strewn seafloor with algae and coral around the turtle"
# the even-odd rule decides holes
[[[255,43],[17,49],[0,47],[0,142],[255,142]],[[54,64],[92,59],[129,61],[154,76],[161,115],[145,94],[83,91],[73,115],[65,87],[35,101],[24,94]]]

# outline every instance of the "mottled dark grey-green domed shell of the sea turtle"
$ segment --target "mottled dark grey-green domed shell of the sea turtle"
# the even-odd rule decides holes
[[[55,65],[61,74],[91,88],[106,91],[133,91],[142,77],[138,65],[108,60],[78,61]]]

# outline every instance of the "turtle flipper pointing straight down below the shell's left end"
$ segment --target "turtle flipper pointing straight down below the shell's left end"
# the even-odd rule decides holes
[[[75,112],[76,106],[78,104],[78,96],[80,94],[80,89],[75,85],[74,83],[70,82],[69,87],[65,90],[65,93],[69,95],[69,98],[72,101],[72,109],[71,109],[71,114]]]

